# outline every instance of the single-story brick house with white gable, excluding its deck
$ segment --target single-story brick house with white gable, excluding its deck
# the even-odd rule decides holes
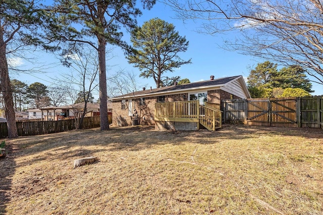
[[[184,85],[175,84],[174,86],[156,89],[151,89],[150,87],[148,90],[143,88],[142,91],[111,99],[113,104],[113,125],[156,125],[156,103],[198,100],[200,105],[207,103],[212,106],[212,104],[220,104],[222,99],[239,98],[250,98],[242,76],[221,79],[214,79],[214,76],[211,76],[208,81]],[[186,110],[186,112],[189,111]]]

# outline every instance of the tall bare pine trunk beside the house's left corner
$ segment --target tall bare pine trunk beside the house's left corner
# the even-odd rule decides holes
[[[107,118],[105,45],[106,45],[105,38],[103,36],[98,36],[99,99],[100,99],[100,128],[101,128],[101,130],[110,129],[109,120]]]

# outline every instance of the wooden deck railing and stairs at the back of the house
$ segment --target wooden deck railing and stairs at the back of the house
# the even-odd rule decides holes
[[[222,112],[198,100],[163,102],[155,104],[155,121],[196,122],[214,131],[222,126]]]

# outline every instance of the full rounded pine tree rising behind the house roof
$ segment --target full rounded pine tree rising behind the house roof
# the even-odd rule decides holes
[[[128,53],[129,63],[141,71],[140,77],[153,78],[156,87],[163,86],[163,75],[181,65],[191,63],[178,55],[187,51],[189,42],[175,31],[173,24],[158,18],[145,22],[131,32],[134,51]]]

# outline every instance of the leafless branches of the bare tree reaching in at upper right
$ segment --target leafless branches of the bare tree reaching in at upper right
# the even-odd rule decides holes
[[[181,19],[211,35],[236,32],[223,48],[300,65],[323,84],[323,3],[317,0],[170,0]]]

